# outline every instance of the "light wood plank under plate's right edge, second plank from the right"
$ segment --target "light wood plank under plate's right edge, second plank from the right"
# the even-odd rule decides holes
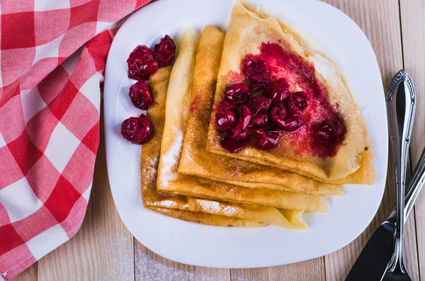
[[[370,40],[378,58],[382,81],[388,88],[392,77],[403,67],[402,42],[399,22],[399,4],[397,0],[327,0],[327,3],[344,11],[355,21]],[[335,253],[325,256],[327,280],[344,280],[361,249],[368,241],[374,229],[395,202],[394,168],[392,157],[389,160],[387,187],[373,222],[355,241]],[[407,222],[406,228],[407,268],[414,280],[419,279],[417,270],[416,233],[414,220]]]

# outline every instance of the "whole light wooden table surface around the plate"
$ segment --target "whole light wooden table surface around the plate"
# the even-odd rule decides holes
[[[412,76],[418,94],[410,149],[410,167],[414,167],[425,144],[425,99],[422,98],[425,91],[425,0],[327,2],[356,21],[370,40],[385,89],[399,69],[406,69]],[[393,173],[390,164],[387,190],[373,222],[355,241],[335,253],[271,268],[202,268],[174,263],[152,253],[125,228],[111,196],[101,132],[93,190],[80,231],[15,280],[344,280],[368,237],[395,202]],[[358,204],[361,207],[361,202]],[[407,268],[413,280],[425,280],[424,192],[409,217],[406,231]]]

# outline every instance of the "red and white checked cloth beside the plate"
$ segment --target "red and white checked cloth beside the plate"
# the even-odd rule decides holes
[[[99,84],[116,22],[147,2],[0,1],[4,280],[79,230],[99,142]]]

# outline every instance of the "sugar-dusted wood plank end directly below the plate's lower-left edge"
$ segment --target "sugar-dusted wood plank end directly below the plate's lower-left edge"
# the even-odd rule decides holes
[[[204,268],[167,260],[135,239],[136,281],[225,281],[230,272],[224,268]]]

